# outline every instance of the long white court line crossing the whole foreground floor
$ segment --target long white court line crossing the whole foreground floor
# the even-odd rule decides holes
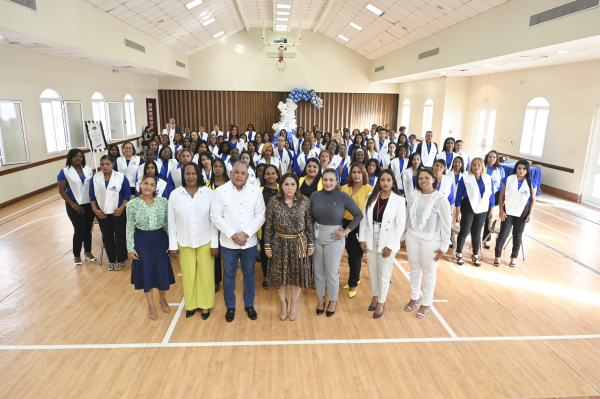
[[[0,345],[2,350],[57,350],[57,349],[128,349],[128,348],[185,348],[223,346],[278,346],[329,344],[394,344],[427,342],[494,342],[494,341],[558,341],[600,339],[600,334],[589,335],[524,335],[508,337],[440,337],[440,338],[381,338],[381,339],[315,339],[298,341],[223,341],[223,342],[170,342],[135,344],[74,344],[74,345]]]

